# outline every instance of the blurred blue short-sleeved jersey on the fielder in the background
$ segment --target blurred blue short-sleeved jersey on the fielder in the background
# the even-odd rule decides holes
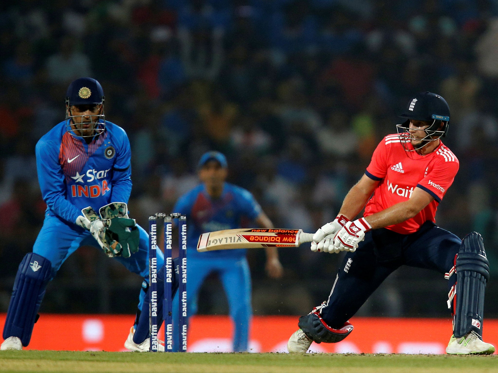
[[[225,183],[219,199],[211,199],[204,184],[182,195],[173,209],[187,216],[188,256],[195,258],[240,258],[246,249],[197,252],[201,233],[240,228],[243,219],[254,220],[261,207],[252,194],[241,187]]]

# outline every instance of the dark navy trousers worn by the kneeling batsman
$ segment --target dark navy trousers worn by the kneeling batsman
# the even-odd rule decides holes
[[[402,265],[448,273],[462,240],[426,221],[412,234],[385,228],[365,234],[354,253],[348,253],[339,270],[322,318],[332,328],[341,328],[365,303],[373,291]],[[451,276],[448,289],[455,284]]]

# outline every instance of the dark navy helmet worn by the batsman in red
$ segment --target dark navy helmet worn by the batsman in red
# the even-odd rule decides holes
[[[418,93],[414,95],[404,111],[399,117],[406,119],[403,124],[398,124],[397,127],[408,128],[411,120],[423,120],[429,122],[430,126],[426,132],[430,136],[444,137],[448,132],[448,122],[450,121],[450,107],[446,100],[439,94],[432,92]],[[443,127],[439,128],[441,121]],[[437,140],[437,139],[434,139]]]

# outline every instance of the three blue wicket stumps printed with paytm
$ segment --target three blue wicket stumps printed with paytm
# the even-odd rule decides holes
[[[157,297],[157,219],[164,219],[164,296]],[[173,219],[178,219],[178,325],[173,327]],[[157,305],[162,301],[164,320],[164,351],[187,352],[187,218],[179,213],[165,214],[158,212],[149,216],[149,331],[150,351],[159,347]],[[179,347],[174,346],[173,333],[177,333]]]

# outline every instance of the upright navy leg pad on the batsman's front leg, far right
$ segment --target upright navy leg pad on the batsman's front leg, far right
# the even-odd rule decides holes
[[[470,331],[483,336],[484,293],[490,279],[483,238],[469,233],[462,241],[455,268],[457,272],[453,334],[460,338]]]

